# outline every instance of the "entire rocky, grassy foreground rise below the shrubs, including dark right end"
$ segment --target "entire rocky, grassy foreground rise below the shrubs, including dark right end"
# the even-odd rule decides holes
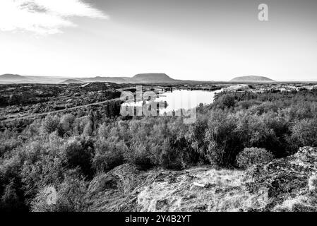
[[[315,211],[316,172],[309,147],[246,171],[125,164],[95,177],[85,198],[90,211]]]

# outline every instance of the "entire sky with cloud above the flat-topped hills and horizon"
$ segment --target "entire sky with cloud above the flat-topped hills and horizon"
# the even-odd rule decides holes
[[[317,81],[316,10],[316,0],[1,0],[0,74]]]

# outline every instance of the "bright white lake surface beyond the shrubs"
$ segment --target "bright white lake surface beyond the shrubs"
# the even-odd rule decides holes
[[[179,111],[180,109],[192,109],[200,103],[210,104],[213,102],[215,93],[222,90],[205,91],[205,90],[173,90],[172,92],[162,93],[150,97],[150,100],[142,100],[137,102],[125,102],[123,106],[129,107],[150,107],[152,102],[159,103],[160,114]]]

